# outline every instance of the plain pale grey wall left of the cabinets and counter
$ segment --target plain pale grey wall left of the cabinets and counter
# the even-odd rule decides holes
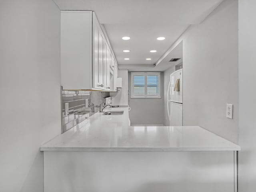
[[[0,191],[43,192],[42,143],[61,133],[60,10],[0,2]]]

